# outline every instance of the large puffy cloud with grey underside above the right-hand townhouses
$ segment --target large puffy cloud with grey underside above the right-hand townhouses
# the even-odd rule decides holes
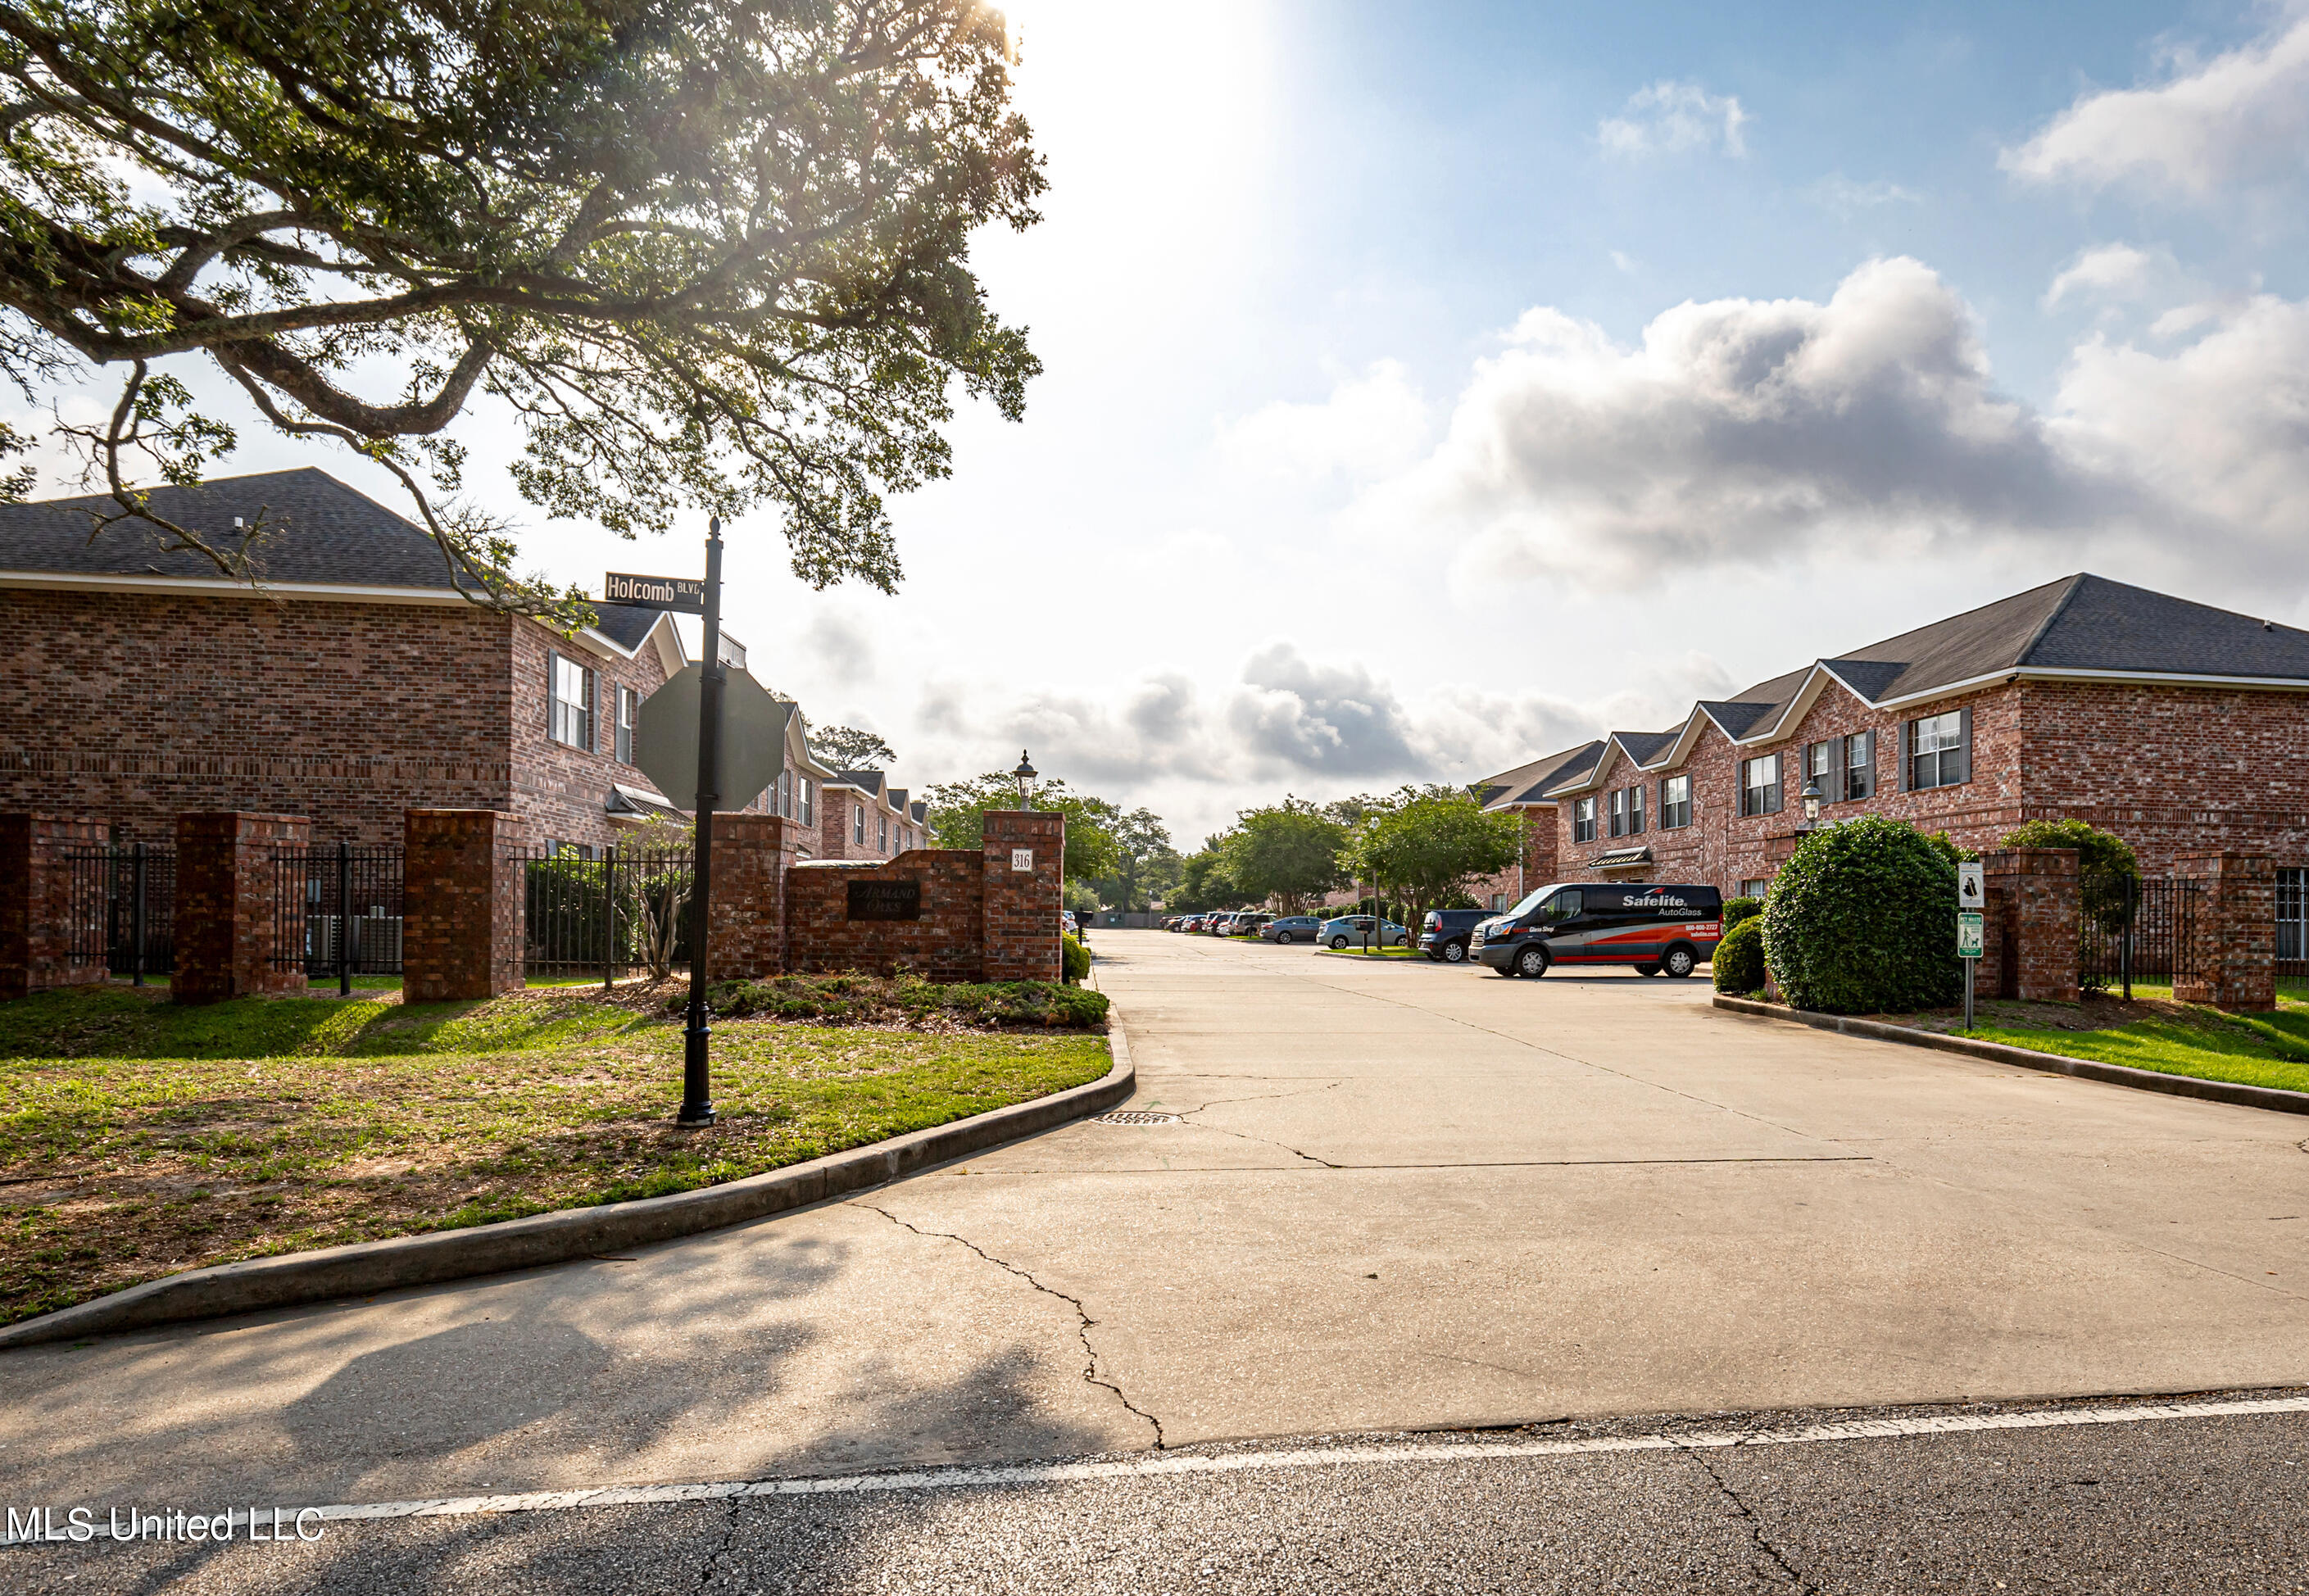
[[[1485,577],[1607,584],[1852,538],[2076,531],[2117,508],[1995,390],[1956,291],[1891,259],[1824,305],[1679,305],[1635,349],[1526,312],[1443,446],[1358,515],[1466,536]]]

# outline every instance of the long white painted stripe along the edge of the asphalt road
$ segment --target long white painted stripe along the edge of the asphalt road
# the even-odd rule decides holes
[[[1983,1430],[2060,1430],[2071,1425],[2140,1425],[2175,1418],[2244,1418],[2309,1414],[2309,1397],[2247,1397],[2233,1402],[2138,1402],[2129,1407],[2071,1407],[2030,1414],[1937,1414],[1921,1418],[1854,1418],[1808,1430],[1716,1430],[1704,1434],[1630,1434],[1584,1441],[1411,1441],[1402,1446],[1307,1446],[1281,1453],[1148,1455],[1111,1462],[1034,1462],[995,1469],[903,1469],[838,1474],[804,1481],[697,1481],[690,1485],[610,1485],[603,1490],[533,1490],[506,1497],[434,1497],[427,1501],[356,1501],[314,1508],[321,1522],[372,1517],[464,1517],[478,1513],[559,1513],[663,1501],[732,1501],[739,1497],[845,1497],[882,1490],[974,1490],[988,1485],[1067,1485],[1175,1474],[1249,1474],[1268,1469],[1337,1469],[1358,1462],[1485,1462],[1496,1457],[1586,1457],[1598,1453],[1669,1453],[1723,1446],[1817,1446],[1822,1441],[1889,1441]],[[286,1508],[284,1508],[286,1513]],[[245,1520],[233,1513],[233,1524]],[[309,1520],[307,1520],[309,1522]],[[9,1545],[0,1541],[0,1545]]]

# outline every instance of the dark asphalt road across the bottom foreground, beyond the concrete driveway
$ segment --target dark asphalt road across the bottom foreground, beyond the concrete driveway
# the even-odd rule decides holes
[[[1759,1437],[1819,1418],[1762,1416]],[[1642,1450],[1579,1450],[1598,1444]],[[1819,1444],[1706,1423],[1552,1425],[1189,1460],[1221,1467],[309,1524],[314,1541],[286,1545],[42,1545],[0,1550],[0,1584],[25,1596],[2309,1589],[2302,1411]]]

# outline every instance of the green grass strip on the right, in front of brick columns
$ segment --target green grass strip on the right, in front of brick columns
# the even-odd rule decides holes
[[[2002,1007],[1986,1005],[1981,1019],[1988,1023],[1965,1035],[2062,1058],[2309,1092],[2309,1002],[2288,991],[2279,993],[2274,1014],[2221,1014],[2173,1002],[2170,984],[2134,982],[2129,1009],[2087,998],[2078,1005],[2076,1026],[1995,1023]],[[2094,1009],[2106,1009],[2117,1023],[2094,1023]],[[2120,1021],[2124,1014],[2143,1016]]]

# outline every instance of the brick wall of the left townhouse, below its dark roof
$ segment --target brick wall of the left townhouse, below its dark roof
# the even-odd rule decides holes
[[[0,654],[0,808],[102,818],[166,841],[175,815],[282,811],[335,841],[397,843],[406,808],[520,811],[540,841],[607,843],[614,684],[633,661],[469,605],[12,589]],[[545,737],[545,651],[598,672],[600,751]]]

